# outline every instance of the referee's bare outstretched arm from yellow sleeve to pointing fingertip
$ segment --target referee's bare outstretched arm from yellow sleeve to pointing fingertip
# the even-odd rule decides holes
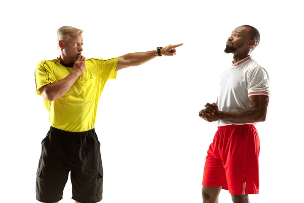
[[[182,44],[168,45],[167,47],[161,49],[161,54],[164,56],[173,56],[176,54],[175,48],[181,45]],[[141,65],[151,59],[156,58],[157,56],[157,50],[125,54],[118,57],[118,63],[115,71],[119,71],[125,67]]]

